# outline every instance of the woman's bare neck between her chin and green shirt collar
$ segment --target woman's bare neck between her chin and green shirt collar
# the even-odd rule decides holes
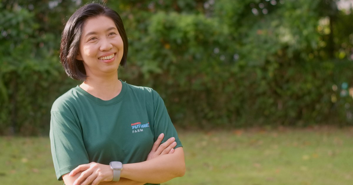
[[[102,100],[110,100],[121,92],[122,84],[118,75],[110,78],[89,78],[80,85],[86,92]]]

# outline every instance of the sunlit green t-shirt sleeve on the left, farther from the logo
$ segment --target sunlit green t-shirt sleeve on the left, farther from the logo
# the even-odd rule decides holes
[[[52,111],[49,137],[58,180],[78,165],[89,163],[81,129],[72,114]]]

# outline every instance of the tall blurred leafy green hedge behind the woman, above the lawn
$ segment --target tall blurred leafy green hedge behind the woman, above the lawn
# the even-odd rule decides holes
[[[0,134],[47,135],[80,84],[58,50],[86,0],[1,0]],[[119,78],[161,94],[182,128],[353,124],[352,0],[100,0],[122,17]]]

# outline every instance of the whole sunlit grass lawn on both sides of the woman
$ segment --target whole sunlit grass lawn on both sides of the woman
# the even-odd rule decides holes
[[[163,185],[352,185],[353,128],[183,131],[187,171]],[[48,137],[0,137],[0,184],[62,185]]]

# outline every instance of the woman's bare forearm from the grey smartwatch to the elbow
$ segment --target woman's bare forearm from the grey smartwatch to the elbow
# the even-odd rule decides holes
[[[133,164],[124,164],[121,177],[152,184],[164,183],[185,173],[183,147],[176,148],[173,154]]]

